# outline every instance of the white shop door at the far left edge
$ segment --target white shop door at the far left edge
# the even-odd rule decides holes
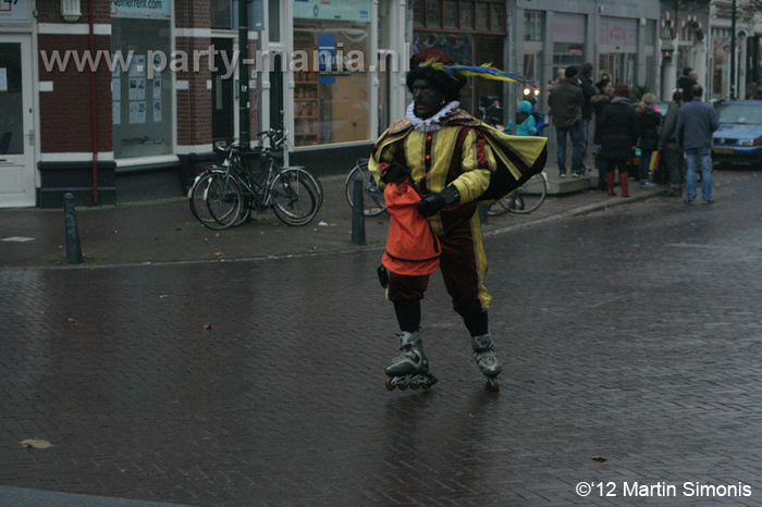
[[[35,206],[32,53],[27,35],[0,35],[0,208]]]

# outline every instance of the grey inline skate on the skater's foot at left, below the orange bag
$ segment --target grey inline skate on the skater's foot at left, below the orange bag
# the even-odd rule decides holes
[[[429,360],[423,354],[421,331],[418,330],[415,333],[401,331],[396,335],[400,339],[402,354],[394,358],[392,364],[386,368],[384,385],[389,391],[393,391],[395,387],[398,387],[400,391],[405,391],[407,387],[429,389],[438,380],[429,373]]]

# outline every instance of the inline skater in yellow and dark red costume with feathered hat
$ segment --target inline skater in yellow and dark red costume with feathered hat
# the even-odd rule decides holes
[[[477,206],[480,200],[505,197],[542,171],[546,139],[505,135],[460,108],[458,97],[466,76],[524,82],[520,76],[489,65],[454,65],[444,55],[423,58],[411,59],[406,84],[413,102],[405,116],[376,141],[369,168],[384,190],[388,184],[395,184],[396,191],[397,184],[411,183],[420,193],[417,217],[428,219],[439,239],[439,268],[453,308],[470,334],[479,369],[496,389],[502,367],[488,325],[491,297],[484,287],[487,257]],[[420,259],[395,256],[390,251],[391,224],[383,265],[389,272],[386,298],[394,304],[400,325],[401,354],[386,369],[386,387],[428,388],[435,379],[423,353],[420,300],[429,274],[417,270],[419,262],[429,260],[427,248],[425,245]],[[407,240],[415,243],[416,238]]]

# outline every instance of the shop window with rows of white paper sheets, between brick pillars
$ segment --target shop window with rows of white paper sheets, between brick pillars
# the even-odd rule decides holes
[[[112,74],[113,147],[116,159],[172,152],[170,22],[112,17],[112,52],[128,62]],[[161,60],[161,55],[165,58]]]

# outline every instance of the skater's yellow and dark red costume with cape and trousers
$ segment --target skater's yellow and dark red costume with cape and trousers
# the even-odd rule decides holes
[[[516,181],[529,168],[544,164],[545,138],[506,136],[460,109],[445,106],[434,122],[416,122],[408,114],[392,124],[373,145],[369,168],[379,186],[390,163],[408,168],[420,193],[439,193],[453,185],[458,203],[429,218],[442,247],[440,268],[453,308],[464,319],[487,312],[491,296],[484,286],[487,256],[482,242],[479,199],[499,165]],[[539,171],[534,171],[539,172]],[[429,276],[390,273],[386,297],[392,301],[423,298]]]

